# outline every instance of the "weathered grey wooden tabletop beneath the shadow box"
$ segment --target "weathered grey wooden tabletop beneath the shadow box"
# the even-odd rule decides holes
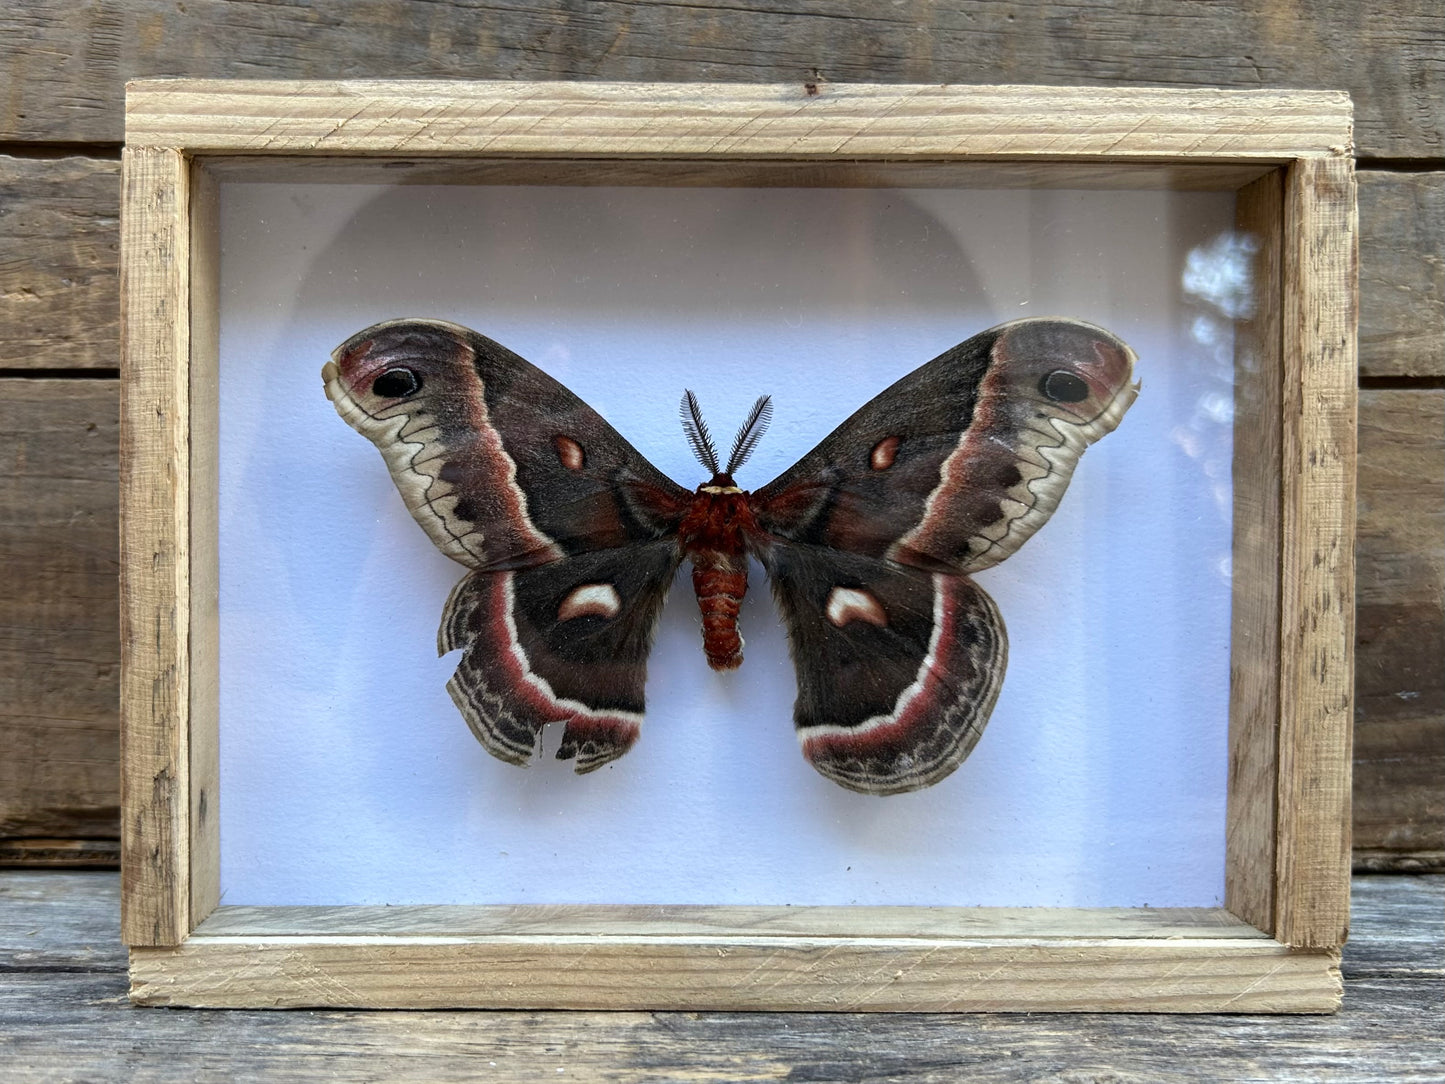
[[[1335,1016],[136,1009],[117,900],[0,873],[0,1080],[1445,1080],[1445,876],[1355,877]]]

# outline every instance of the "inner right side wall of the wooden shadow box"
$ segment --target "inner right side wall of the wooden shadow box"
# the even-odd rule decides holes
[[[1224,900],[1274,931],[1279,798],[1280,259],[1283,171],[1235,198],[1253,238],[1253,309],[1234,327],[1234,541],[1230,600],[1230,782]]]

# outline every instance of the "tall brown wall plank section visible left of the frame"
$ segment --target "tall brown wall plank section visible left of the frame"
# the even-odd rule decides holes
[[[55,861],[56,840],[116,838],[116,390],[114,380],[0,380],[6,860],[39,847]]]

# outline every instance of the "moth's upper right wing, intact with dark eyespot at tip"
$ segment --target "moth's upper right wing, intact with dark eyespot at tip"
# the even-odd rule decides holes
[[[790,542],[928,571],[998,564],[1058,507],[1084,449],[1134,400],[1134,353],[1072,319],[959,343],[860,408],[753,494]]]

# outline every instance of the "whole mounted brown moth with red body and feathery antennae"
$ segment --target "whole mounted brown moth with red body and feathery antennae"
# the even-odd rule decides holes
[[[548,723],[566,724],[558,757],[578,772],[626,753],[678,565],[692,564],[708,663],[727,671],[743,661],[756,556],[788,626],[803,756],[884,795],[936,783],[978,741],[1007,637],[970,577],[1049,517],[1079,455],[1134,400],[1133,363],[1090,324],[1003,324],[751,493],[733,476],[767,426],[766,396],[720,465],[686,393],[683,429],[711,473],[689,493],[556,380],[455,324],[370,327],[322,379],[416,522],[471,569],[438,649],[461,649],[448,689],[490,753],[527,763]]]

